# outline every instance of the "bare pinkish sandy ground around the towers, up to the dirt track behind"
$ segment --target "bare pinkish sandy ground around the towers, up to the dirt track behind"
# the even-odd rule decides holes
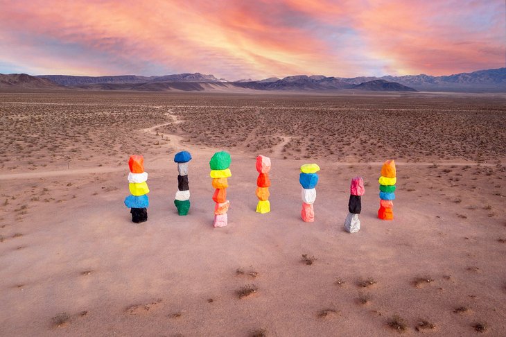
[[[392,336],[395,327],[406,336],[473,336],[476,325],[487,336],[506,334],[498,158],[398,159],[395,220],[380,221],[381,162],[273,153],[272,211],[256,214],[255,154],[156,135],[153,126],[168,122],[135,130],[139,139],[164,139],[143,153],[147,223],[131,223],[123,205],[128,156],[0,174],[1,336]],[[231,207],[229,225],[215,229],[208,162],[222,149],[232,154]],[[188,216],[173,205],[178,150],[193,155]],[[322,168],[315,223],[299,215],[306,162]],[[360,232],[348,234],[342,224],[356,175],[366,193]],[[302,254],[315,260],[308,265]],[[245,286],[256,292],[241,298]],[[417,332],[424,321],[434,327]]]

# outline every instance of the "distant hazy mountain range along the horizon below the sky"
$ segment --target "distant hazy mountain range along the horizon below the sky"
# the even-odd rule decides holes
[[[382,77],[288,76],[264,80],[227,81],[213,75],[173,74],[166,76],[67,76],[0,74],[0,88],[25,89],[96,89],[139,91],[204,91],[252,89],[263,91],[333,91],[358,89],[369,91],[428,92],[506,92],[506,68],[488,69],[450,76],[425,74]]]

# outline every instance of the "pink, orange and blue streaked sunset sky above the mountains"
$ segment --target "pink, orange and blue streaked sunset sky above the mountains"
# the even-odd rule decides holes
[[[505,62],[505,0],[0,0],[2,74],[439,76]]]

